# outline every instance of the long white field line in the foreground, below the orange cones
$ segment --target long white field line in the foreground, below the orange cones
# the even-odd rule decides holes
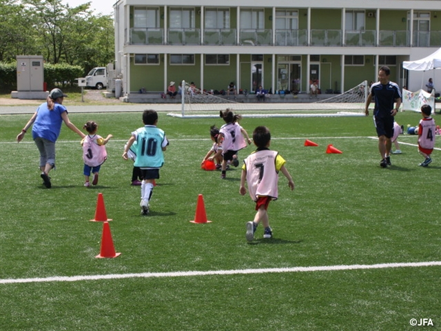
[[[184,271],[184,272],[141,272],[138,274],[96,274],[90,276],[71,277],[46,277],[46,278],[23,278],[23,279],[0,279],[0,284],[16,283],[48,283],[54,281],[99,281],[103,279],[127,279],[127,278],[164,278],[164,277],[194,277],[194,276],[225,276],[232,274],[269,274],[286,272],[325,272],[340,270],[369,270],[388,268],[420,268],[441,265],[441,261],[412,262],[412,263],[380,263],[380,264],[354,264],[354,265],[327,265],[318,267],[294,267],[294,268],[268,268],[268,269],[243,269],[243,270],[212,270],[212,271]]]

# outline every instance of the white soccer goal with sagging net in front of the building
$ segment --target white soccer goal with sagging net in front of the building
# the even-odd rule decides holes
[[[200,90],[182,81],[181,114],[167,115],[181,118],[218,117],[220,110],[232,108],[243,117],[348,117],[364,116],[367,99],[367,81],[336,94],[328,99],[311,101],[309,97],[285,102],[256,102],[254,94],[223,95],[214,91]],[[267,98],[281,98],[279,94],[267,94]]]

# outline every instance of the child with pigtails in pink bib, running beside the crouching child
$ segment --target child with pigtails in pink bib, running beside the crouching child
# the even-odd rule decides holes
[[[221,126],[219,130],[218,151],[213,157],[209,157],[208,159],[212,161],[222,154],[222,174],[220,178],[225,179],[228,161],[231,161],[232,165],[237,167],[239,165],[237,152],[247,147],[243,136],[247,137],[248,144],[251,144],[251,139],[249,139],[247,131],[237,123],[242,117],[238,114],[234,114],[231,108],[227,108],[223,112],[220,111],[220,117],[223,118],[225,124]]]

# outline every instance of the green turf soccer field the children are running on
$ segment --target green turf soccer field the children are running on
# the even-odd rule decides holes
[[[0,116],[0,330],[398,331],[416,328],[412,319],[439,330],[441,139],[422,168],[417,136],[401,135],[403,154],[382,169],[372,117],[245,117],[250,136],[269,127],[296,183],[291,192],[280,176],[268,210],[274,238],[263,239],[260,225],[248,243],[255,211],[239,194],[240,169],[222,180],[200,168],[220,118],[159,114],[170,146],[143,217],[133,163],[121,157],[141,112],[70,113],[77,127],[93,120],[99,134],[114,135],[91,188],[78,136],[65,126],[52,188],[41,184],[30,132],[14,141],[29,117]],[[397,121],[416,126],[420,114]],[[327,154],[329,144],[342,154]],[[99,193],[115,259],[95,258]],[[212,223],[189,222],[198,194]]]

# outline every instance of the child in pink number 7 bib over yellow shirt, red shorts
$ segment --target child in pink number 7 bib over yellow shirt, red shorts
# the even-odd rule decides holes
[[[254,145],[257,149],[252,152],[243,162],[242,175],[240,176],[240,194],[245,195],[245,180],[249,190],[249,195],[256,202],[256,216],[254,221],[246,224],[247,241],[254,239],[257,225],[263,223],[265,228],[263,238],[271,238],[273,232],[269,226],[268,205],[269,201],[278,198],[278,172],[281,171],[288,179],[288,185],[294,190],[294,181],[285,168],[285,159],[275,150],[269,150],[271,133],[266,126],[258,126],[253,132]]]

